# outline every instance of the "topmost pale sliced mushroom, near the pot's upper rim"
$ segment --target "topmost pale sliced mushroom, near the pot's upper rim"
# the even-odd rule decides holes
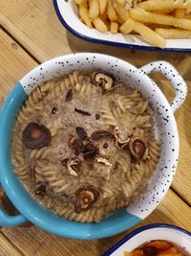
[[[104,91],[110,91],[114,86],[114,81],[111,77],[99,72],[92,73],[91,81],[93,84],[101,86]]]

